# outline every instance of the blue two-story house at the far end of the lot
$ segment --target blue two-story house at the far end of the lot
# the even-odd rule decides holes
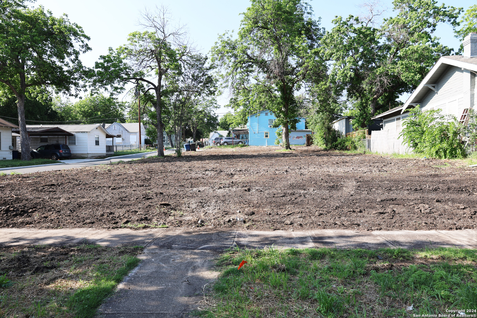
[[[273,146],[277,139],[277,129],[273,128],[273,122],[277,118],[269,110],[264,110],[249,116],[247,129],[249,130],[249,145],[251,146]],[[289,133],[290,144],[306,144],[306,135],[311,130],[305,129],[305,118],[300,117],[297,129]]]

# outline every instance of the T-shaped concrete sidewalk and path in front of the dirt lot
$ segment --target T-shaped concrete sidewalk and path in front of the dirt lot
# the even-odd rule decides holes
[[[477,248],[476,230],[210,231],[188,229],[0,229],[0,246],[66,245],[145,246],[143,261],[99,309],[103,318],[187,317],[201,306],[202,288],[218,272],[213,258],[229,246],[379,248],[456,246]]]

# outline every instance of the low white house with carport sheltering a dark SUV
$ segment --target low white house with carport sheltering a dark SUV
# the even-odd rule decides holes
[[[41,128],[41,129],[40,129]],[[62,134],[51,135],[48,131],[59,128]],[[80,125],[27,125],[27,130],[44,132],[45,135],[32,136],[30,147],[36,149],[43,144],[67,144],[71,149],[72,158],[88,158],[106,155],[106,130],[100,123]],[[40,130],[39,130],[40,129]],[[108,134],[109,135],[109,134]],[[17,138],[17,148],[20,148],[20,138]]]

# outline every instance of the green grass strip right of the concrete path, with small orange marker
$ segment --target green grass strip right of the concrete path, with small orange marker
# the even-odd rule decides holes
[[[242,260],[248,263],[238,270]],[[216,262],[221,275],[206,294],[209,305],[194,312],[200,317],[422,317],[476,309],[471,249],[231,248]]]

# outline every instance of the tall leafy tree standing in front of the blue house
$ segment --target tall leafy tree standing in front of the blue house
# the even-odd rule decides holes
[[[289,128],[298,123],[295,94],[312,73],[326,70],[318,55],[321,36],[319,21],[306,2],[252,0],[238,38],[226,33],[212,48],[214,60],[225,70],[223,80],[233,97],[230,105],[236,110],[262,105],[273,111],[285,149],[291,149]]]

